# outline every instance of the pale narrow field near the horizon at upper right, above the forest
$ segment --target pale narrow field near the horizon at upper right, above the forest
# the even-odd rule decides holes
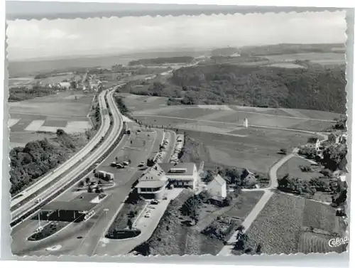
[[[345,56],[343,53],[295,53],[295,54],[283,54],[283,55],[263,55],[264,58],[269,60],[281,62],[281,61],[293,61],[293,60],[310,60],[312,63],[319,64],[344,64]]]

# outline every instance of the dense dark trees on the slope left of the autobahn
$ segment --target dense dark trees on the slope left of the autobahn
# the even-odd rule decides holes
[[[69,158],[70,152],[76,150],[72,138],[62,129],[58,129],[53,141],[50,142],[48,139],[30,141],[25,147],[11,149],[9,154],[11,195],[16,195],[37,178],[62,164]]]

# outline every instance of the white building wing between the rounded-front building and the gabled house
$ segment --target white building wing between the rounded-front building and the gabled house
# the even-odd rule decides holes
[[[195,163],[161,163],[159,166],[173,186],[195,190],[199,178]]]

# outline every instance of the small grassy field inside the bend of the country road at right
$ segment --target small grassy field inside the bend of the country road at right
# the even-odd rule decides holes
[[[323,177],[322,173],[317,171],[302,172],[300,166],[311,166],[310,162],[300,157],[293,157],[278,169],[278,178],[283,178],[286,174],[295,178],[309,181],[311,178]],[[312,167],[312,166],[311,166]]]

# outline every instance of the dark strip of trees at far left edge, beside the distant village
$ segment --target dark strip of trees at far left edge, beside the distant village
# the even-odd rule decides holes
[[[13,87],[9,90],[9,102],[20,102],[21,100],[31,100],[35,97],[43,97],[54,94],[55,90],[50,87],[33,85],[32,88]]]

